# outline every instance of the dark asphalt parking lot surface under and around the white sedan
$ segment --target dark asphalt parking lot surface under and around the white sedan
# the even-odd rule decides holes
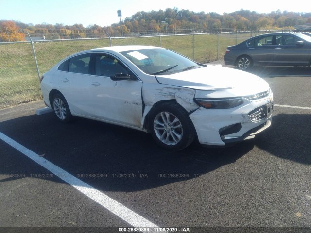
[[[0,110],[0,232],[311,232],[311,68],[252,72],[274,92],[272,126],[230,148],[170,152],[147,133],[35,115],[42,101]]]

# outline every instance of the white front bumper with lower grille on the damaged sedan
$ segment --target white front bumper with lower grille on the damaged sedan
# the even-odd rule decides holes
[[[199,142],[210,146],[228,146],[254,138],[267,129],[272,122],[273,102],[265,98],[233,109],[205,109],[200,107],[190,119],[197,132]],[[259,109],[263,109],[259,112]],[[254,110],[258,115],[254,117]],[[260,115],[261,114],[261,115]]]

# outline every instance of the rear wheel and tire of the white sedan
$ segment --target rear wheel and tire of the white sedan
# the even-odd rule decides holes
[[[57,93],[53,96],[52,106],[55,116],[61,122],[69,122],[72,118],[68,103],[63,95]]]

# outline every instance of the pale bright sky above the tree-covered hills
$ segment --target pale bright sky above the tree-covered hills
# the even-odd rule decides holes
[[[209,3],[210,2],[210,3]],[[221,3],[217,3],[221,2]],[[253,2],[253,3],[252,3]],[[204,11],[223,14],[240,9],[270,13],[271,11],[310,12],[305,3],[289,4],[286,1],[269,1],[260,4],[260,1],[245,0],[0,0],[0,19],[16,20],[23,23],[63,23],[73,25],[82,23],[83,26],[98,24],[109,26],[118,23],[117,10],[122,11],[121,20],[131,17],[138,11],[158,11],[160,9],[177,7],[194,12]]]

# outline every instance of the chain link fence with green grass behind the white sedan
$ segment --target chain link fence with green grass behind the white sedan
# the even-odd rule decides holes
[[[106,33],[104,38],[0,43],[0,109],[41,100],[39,75],[78,51],[118,45],[151,45],[177,51],[197,62],[208,63],[221,59],[227,46],[261,33],[192,31],[190,34],[155,33],[139,37],[112,37]]]

